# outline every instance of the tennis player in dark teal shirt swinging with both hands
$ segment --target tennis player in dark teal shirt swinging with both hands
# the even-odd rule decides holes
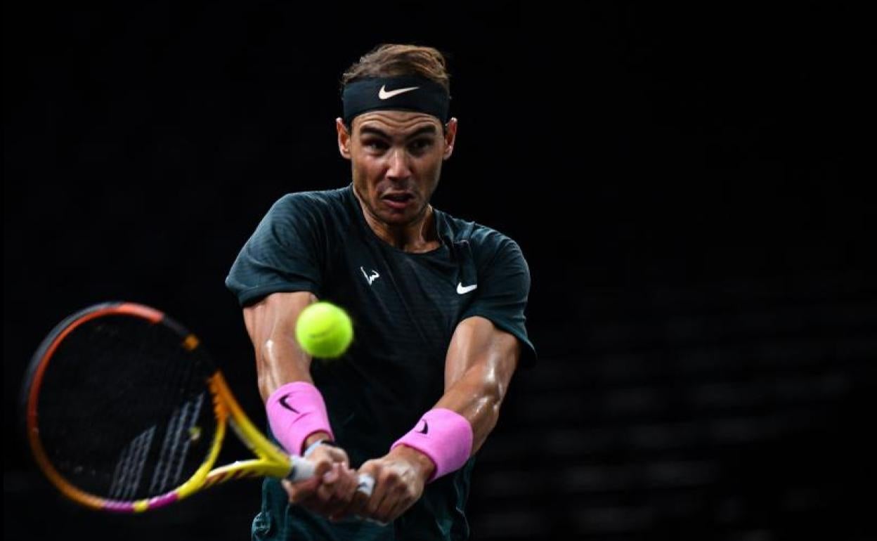
[[[342,83],[335,125],[353,182],[279,199],[225,282],[271,433],[318,473],[265,480],[253,539],[465,539],[474,454],[518,364],[535,359],[530,273],[512,239],[430,204],[458,127],[445,57],[379,46]],[[332,362],[294,338],[317,299],[353,318],[353,345]],[[358,473],[374,477],[370,497]]]

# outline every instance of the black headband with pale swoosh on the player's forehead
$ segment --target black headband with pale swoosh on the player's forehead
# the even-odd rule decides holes
[[[344,122],[370,110],[415,110],[448,120],[451,96],[438,82],[424,77],[374,77],[351,82],[341,95]]]

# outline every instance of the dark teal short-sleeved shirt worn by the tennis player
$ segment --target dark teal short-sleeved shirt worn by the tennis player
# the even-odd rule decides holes
[[[445,357],[457,324],[481,316],[535,359],[524,308],[530,271],[520,248],[488,227],[435,210],[440,246],[405,253],[368,226],[353,187],[278,200],[239,253],[225,285],[246,306],[281,291],[310,291],[353,319],[353,345],[315,360],[336,441],[359,466],[389,452],[444,393]],[[465,539],[467,466],[427,485],[423,497],[387,527],[329,523],[287,505],[266,480],[256,539]]]

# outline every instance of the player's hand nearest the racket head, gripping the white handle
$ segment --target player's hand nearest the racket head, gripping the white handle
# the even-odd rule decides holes
[[[317,445],[308,459],[314,463],[314,476],[294,483],[283,480],[289,502],[335,520],[346,515],[353,501],[359,477],[347,453],[340,447]]]

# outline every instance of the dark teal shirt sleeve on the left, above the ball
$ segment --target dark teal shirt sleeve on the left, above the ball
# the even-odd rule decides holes
[[[278,292],[320,296],[325,227],[305,194],[283,196],[238,254],[225,287],[241,306]]]

